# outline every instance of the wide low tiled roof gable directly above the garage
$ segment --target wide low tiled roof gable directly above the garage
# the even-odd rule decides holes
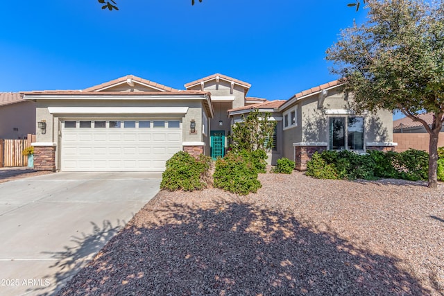
[[[134,75],[127,75],[94,87],[83,89],[83,92],[174,92],[177,89],[161,85]]]

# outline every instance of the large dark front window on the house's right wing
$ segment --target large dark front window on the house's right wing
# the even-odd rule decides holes
[[[330,150],[364,150],[364,117],[330,117]]]

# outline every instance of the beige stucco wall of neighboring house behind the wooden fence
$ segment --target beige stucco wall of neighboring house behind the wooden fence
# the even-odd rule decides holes
[[[35,134],[35,103],[0,107],[0,139],[24,139],[27,134]]]

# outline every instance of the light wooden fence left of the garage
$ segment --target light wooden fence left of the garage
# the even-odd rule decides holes
[[[0,168],[28,166],[28,157],[23,156],[24,148],[35,142],[35,134],[28,134],[28,139],[0,139]]]

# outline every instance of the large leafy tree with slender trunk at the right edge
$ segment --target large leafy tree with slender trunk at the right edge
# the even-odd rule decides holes
[[[444,3],[368,0],[368,20],[327,50],[357,110],[399,110],[429,133],[429,187],[436,188],[444,116]],[[432,113],[431,125],[418,117]]]

